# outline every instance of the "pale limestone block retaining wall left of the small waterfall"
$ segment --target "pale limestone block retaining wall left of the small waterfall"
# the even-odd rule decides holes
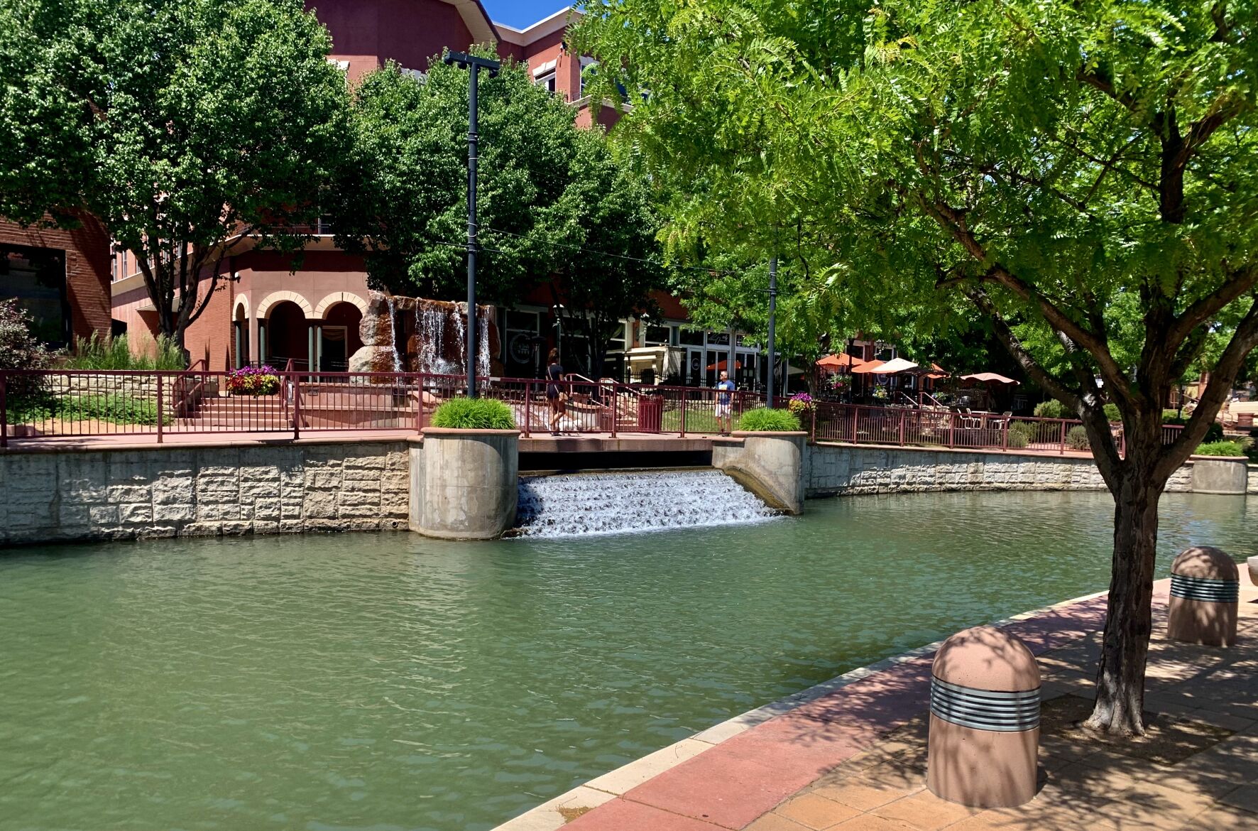
[[[405,441],[0,455],[0,545],[404,529]]]

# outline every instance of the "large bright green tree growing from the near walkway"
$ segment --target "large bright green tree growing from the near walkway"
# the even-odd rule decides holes
[[[827,263],[805,290],[819,302],[917,330],[964,303],[1083,421],[1116,502],[1089,723],[1142,733],[1157,500],[1258,344],[1254,3],[587,11],[580,45],[647,93],[618,137],[678,193],[704,183],[671,203],[669,238],[742,240],[771,194]],[[1219,332],[1164,444],[1162,404]]]

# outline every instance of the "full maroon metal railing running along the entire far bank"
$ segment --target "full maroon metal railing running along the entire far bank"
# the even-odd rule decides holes
[[[463,375],[312,373],[292,363],[274,392],[231,394],[230,373],[204,361],[185,371],[18,370],[0,373],[0,446],[16,436],[166,436],[302,431],[423,429],[433,410],[463,394]],[[482,378],[488,398],[507,403],[526,437],[560,433],[715,434],[764,404],[759,393],[699,387],[642,387],[579,375],[547,382]],[[552,394],[560,394],[556,399]],[[786,405],[784,399],[777,402]],[[10,416],[11,413],[11,416]],[[557,419],[554,418],[557,414]],[[1086,452],[1081,422],[821,402],[808,424],[819,442],[917,447]],[[1118,449],[1122,426],[1113,424]],[[1174,442],[1181,427],[1162,427]]]

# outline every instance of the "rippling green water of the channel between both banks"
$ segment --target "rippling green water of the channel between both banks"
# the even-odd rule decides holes
[[[1160,575],[1254,550],[1167,496]],[[0,555],[0,828],[488,828],[737,713],[1105,587],[1106,495],[809,502],[586,539]]]

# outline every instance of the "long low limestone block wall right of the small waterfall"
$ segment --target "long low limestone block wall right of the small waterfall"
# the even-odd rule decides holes
[[[1189,491],[1193,468],[1176,471],[1167,491]],[[1103,491],[1091,458],[852,444],[813,444],[808,496],[918,491]],[[1250,478],[1250,485],[1255,483]]]

